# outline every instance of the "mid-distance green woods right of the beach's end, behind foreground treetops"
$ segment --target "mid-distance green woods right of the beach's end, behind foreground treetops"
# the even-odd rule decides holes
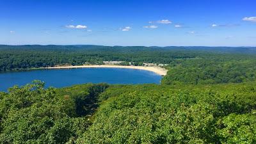
[[[243,58],[243,57],[242,57]],[[256,59],[173,61],[162,84],[215,84],[255,81]]]

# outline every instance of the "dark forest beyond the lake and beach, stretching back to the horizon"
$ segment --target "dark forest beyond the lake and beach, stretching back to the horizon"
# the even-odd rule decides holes
[[[100,45],[0,45],[0,70],[102,64],[102,61],[172,63],[173,60],[255,58],[255,47],[108,47]]]

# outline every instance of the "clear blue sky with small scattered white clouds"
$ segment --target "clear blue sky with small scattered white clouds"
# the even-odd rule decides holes
[[[0,0],[0,44],[256,46],[256,0]]]

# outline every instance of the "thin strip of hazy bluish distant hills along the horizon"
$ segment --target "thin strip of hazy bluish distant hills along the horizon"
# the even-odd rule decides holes
[[[154,51],[154,50],[175,50],[175,51],[205,51],[218,53],[242,53],[256,54],[256,47],[205,47],[205,46],[167,46],[167,47],[145,47],[145,46],[104,46],[104,45],[0,45],[0,49],[44,49],[44,50],[113,50],[113,51]]]

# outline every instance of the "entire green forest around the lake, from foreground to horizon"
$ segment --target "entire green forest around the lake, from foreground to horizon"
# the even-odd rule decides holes
[[[161,84],[0,92],[0,143],[256,143],[253,47],[0,45],[0,69],[168,64]],[[4,82],[1,82],[4,83]]]

